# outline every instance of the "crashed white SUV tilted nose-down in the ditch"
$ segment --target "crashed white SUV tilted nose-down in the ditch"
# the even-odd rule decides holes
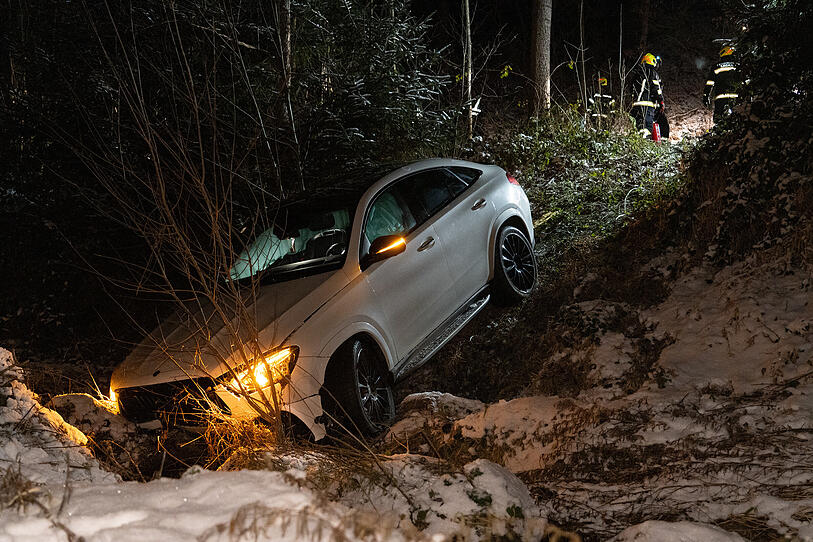
[[[222,320],[207,318],[201,333],[176,316],[116,368],[111,396],[145,426],[188,420],[190,397],[250,417],[273,395],[316,439],[337,419],[375,434],[394,417],[398,378],[490,298],[530,294],[533,245],[517,181],[460,160],[417,162],[284,205],[230,270],[231,280],[260,284],[250,311],[262,355],[237,356],[225,331],[234,326]]]

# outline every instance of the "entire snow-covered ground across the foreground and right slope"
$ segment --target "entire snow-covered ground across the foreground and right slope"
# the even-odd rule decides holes
[[[748,525],[813,540],[811,270],[763,258],[672,276],[682,257],[649,264],[672,281],[652,309],[567,308],[594,330],[558,354],[591,364],[578,396],[413,395],[387,455],[357,463],[288,452],[122,482],[0,349],[0,542],[538,540],[548,520],[590,540],[730,542]],[[607,324],[619,314],[628,329]]]

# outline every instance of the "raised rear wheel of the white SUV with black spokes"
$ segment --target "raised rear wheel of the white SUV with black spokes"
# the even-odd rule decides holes
[[[503,226],[494,248],[492,298],[502,306],[516,305],[536,286],[536,256],[519,228]]]

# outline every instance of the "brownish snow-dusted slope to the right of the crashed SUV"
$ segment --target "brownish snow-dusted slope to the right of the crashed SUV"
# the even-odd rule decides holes
[[[672,277],[681,257],[649,264],[674,280],[671,295],[627,329],[608,322],[629,321],[630,307],[568,308],[595,330],[558,354],[590,363],[577,397],[460,411],[436,396],[424,423],[408,412],[390,441],[421,446],[424,425],[436,448],[505,465],[550,521],[596,539],[668,518],[813,540],[813,273],[761,255]],[[649,522],[618,539],[738,539],[684,527]]]

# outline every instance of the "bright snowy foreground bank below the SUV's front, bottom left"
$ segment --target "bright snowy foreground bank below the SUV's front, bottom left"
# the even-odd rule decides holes
[[[38,403],[2,349],[0,375],[0,542],[532,539],[546,527],[527,487],[485,459],[455,469],[400,454],[319,485],[338,472],[334,458],[269,455],[269,470],[122,482]]]

